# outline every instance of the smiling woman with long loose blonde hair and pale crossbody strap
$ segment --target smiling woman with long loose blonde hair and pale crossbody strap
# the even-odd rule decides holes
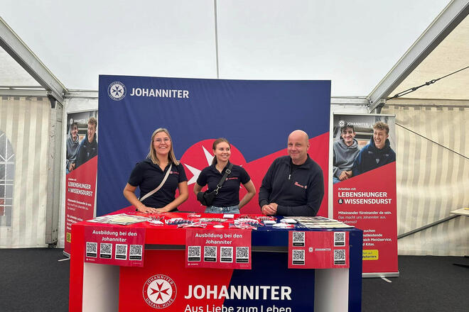
[[[161,185],[168,170],[171,171],[158,191],[143,201],[137,199],[137,186],[140,188],[140,197],[143,198]],[[178,197],[176,189],[179,190]],[[174,155],[171,135],[165,128],[158,128],[151,135],[150,152],[146,159],[137,163],[130,174],[129,182],[124,188],[124,197],[137,211],[163,213],[177,211],[188,196],[188,179],[185,177],[183,164]]]

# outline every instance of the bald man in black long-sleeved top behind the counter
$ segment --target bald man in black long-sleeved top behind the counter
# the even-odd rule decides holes
[[[324,196],[323,170],[308,155],[308,134],[289,135],[289,156],[279,157],[259,189],[259,206],[266,216],[316,216]]]

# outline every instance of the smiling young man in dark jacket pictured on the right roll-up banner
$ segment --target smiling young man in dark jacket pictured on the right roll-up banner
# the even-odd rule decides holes
[[[378,121],[373,125],[370,143],[360,150],[353,162],[352,174],[357,176],[396,161],[396,153],[389,144],[389,126]]]

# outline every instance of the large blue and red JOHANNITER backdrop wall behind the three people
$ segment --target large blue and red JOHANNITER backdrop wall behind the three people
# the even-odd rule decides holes
[[[259,191],[274,159],[287,155],[289,133],[301,129],[310,138],[310,157],[323,169],[319,215],[327,216],[329,122],[330,81],[100,75],[97,215],[130,206],[122,190],[131,171],[146,158],[153,131],[167,128],[188,179],[189,199],[179,211],[204,211],[193,187],[212,162],[215,139],[230,141],[230,162],[246,169]],[[239,198],[246,193],[241,186]],[[259,211],[256,195],[240,212]]]

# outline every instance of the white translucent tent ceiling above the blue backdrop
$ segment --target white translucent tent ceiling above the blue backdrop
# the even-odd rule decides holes
[[[2,0],[1,17],[65,87],[97,89],[98,74],[215,78],[213,2]],[[364,96],[448,2],[219,0],[220,78]]]

